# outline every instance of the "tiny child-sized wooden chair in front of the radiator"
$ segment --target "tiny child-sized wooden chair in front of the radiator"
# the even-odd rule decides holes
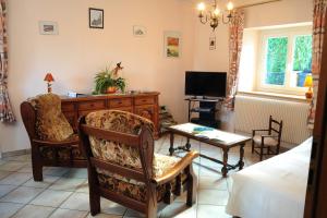
[[[252,131],[252,153],[259,155],[263,160],[264,155],[278,155],[280,150],[280,140],[282,131],[282,120],[274,120],[269,117],[269,128],[266,130]],[[264,132],[265,134],[258,134]]]

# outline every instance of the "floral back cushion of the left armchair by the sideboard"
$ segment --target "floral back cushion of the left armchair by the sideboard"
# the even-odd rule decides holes
[[[36,110],[36,133],[40,140],[61,142],[74,134],[61,111],[61,100],[55,94],[38,95],[28,99]]]

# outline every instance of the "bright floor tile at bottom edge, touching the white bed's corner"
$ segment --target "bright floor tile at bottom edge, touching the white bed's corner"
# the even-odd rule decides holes
[[[225,206],[198,205],[197,218],[232,218],[225,213]]]

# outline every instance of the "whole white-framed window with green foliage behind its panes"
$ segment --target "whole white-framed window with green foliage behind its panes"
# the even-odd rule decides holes
[[[303,94],[311,73],[311,26],[262,31],[261,36],[257,89]]]

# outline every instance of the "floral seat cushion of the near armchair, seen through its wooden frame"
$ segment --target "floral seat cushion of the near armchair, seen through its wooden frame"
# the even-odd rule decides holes
[[[169,169],[171,169],[177,162],[179,158],[170,157],[166,155],[155,154],[154,156],[154,178],[161,177]],[[145,202],[146,199],[146,184],[133,179],[124,178],[117,173],[111,173],[106,170],[97,169],[98,180],[101,186],[119,193],[123,194],[128,197],[131,197],[136,201]],[[186,174],[181,173],[182,183],[186,180]],[[175,180],[170,181],[172,191],[175,190]],[[157,201],[160,202],[166,193],[166,184],[157,186]]]

